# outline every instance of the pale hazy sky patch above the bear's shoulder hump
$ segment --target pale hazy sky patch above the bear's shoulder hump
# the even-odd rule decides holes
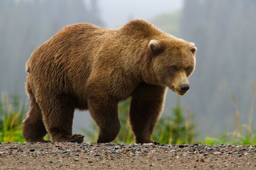
[[[131,19],[150,20],[157,14],[176,11],[183,0],[99,0],[102,19],[108,28],[117,28]]]

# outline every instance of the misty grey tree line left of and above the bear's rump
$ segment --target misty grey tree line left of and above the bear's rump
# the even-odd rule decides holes
[[[64,26],[102,26],[97,0],[0,0],[0,91],[24,94],[25,64],[31,53]],[[25,95],[24,95],[25,96]]]

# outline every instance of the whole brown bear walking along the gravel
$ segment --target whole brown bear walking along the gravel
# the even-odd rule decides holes
[[[31,101],[23,121],[27,142],[83,142],[72,134],[75,109],[89,110],[99,143],[120,130],[117,105],[131,97],[129,119],[137,143],[151,143],[166,88],[183,95],[195,68],[195,44],[145,20],[108,29],[79,23],[61,29],[26,64]]]

